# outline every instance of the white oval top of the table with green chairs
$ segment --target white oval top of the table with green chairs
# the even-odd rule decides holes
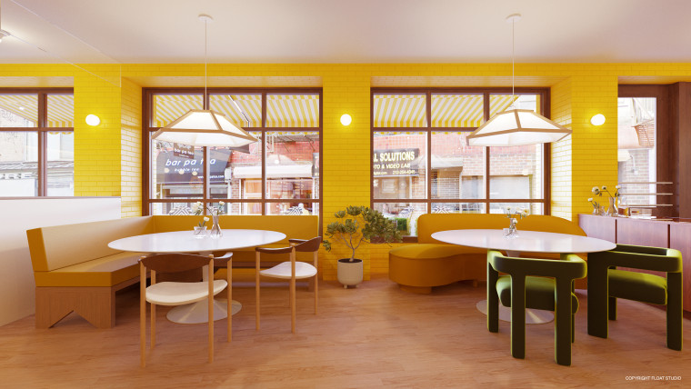
[[[504,237],[502,230],[440,231],[432,234],[432,238],[449,244],[511,252],[596,253],[616,247],[612,242],[588,236],[521,230],[518,230],[518,236],[514,238]]]

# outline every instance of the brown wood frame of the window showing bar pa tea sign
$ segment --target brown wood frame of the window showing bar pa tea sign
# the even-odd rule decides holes
[[[187,199],[152,199],[151,198],[151,142],[149,142],[149,134],[154,133],[160,127],[155,127],[153,117],[154,95],[202,95],[204,96],[204,88],[143,88],[142,89],[142,151],[144,154],[142,166],[142,214],[151,214],[151,204],[160,203],[185,203]],[[323,193],[324,180],[322,178],[324,154],[323,145],[323,90],[322,88],[224,88],[214,87],[206,90],[204,106],[209,104],[210,95],[261,95],[262,96],[262,121],[261,125],[257,127],[243,127],[248,132],[259,132],[262,135],[262,197],[260,199],[231,199],[231,198],[214,198],[209,195],[209,181],[210,175],[205,174],[204,192],[201,198],[194,200],[201,201],[203,204],[216,203],[218,201],[225,201],[226,203],[262,204],[262,214],[266,214],[266,204],[269,203],[316,203],[319,204],[319,223],[322,221],[322,214],[324,212]],[[267,127],[266,126],[266,95],[319,95],[319,126],[318,127]],[[266,136],[267,132],[272,131],[305,131],[319,133],[319,198],[314,199],[272,199],[266,198]],[[204,159],[207,160],[208,148],[204,147]],[[193,199],[189,199],[193,200]],[[206,214],[206,209],[205,209]],[[321,230],[321,225],[320,225]]]

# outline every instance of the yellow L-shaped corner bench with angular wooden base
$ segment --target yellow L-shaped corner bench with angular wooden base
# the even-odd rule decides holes
[[[36,328],[48,328],[76,312],[98,328],[115,325],[115,292],[139,281],[141,253],[124,253],[108,243],[139,234],[185,231],[202,216],[142,216],[103,222],[65,224],[26,231],[36,284]],[[288,239],[318,235],[315,215],[222,215],[224,229],[257,229],[284,233]],[[303,253],[301,253],[303,254]],[[312,256],[298,257],[312,261]],[[276,261],[283,258],[276,255]],[[254,266],[254,248],[234,252],[233,263]],[[225,269],[220,270],[225,276]]]

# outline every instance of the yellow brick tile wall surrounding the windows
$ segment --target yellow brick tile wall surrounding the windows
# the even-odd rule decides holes
[[[87,70],[119,82],[117,65],[85,65]],[[209,76],[255,77],[261,84],[266,77],[318,77],[324,86],[324,225],[333,214],[348,204],[370,201],[369,88],[372,77],[416,77],[433,80],[449,77],[454,85],[464,80],[511,75],[507,64],[213,64]],[[123,65],[124,79],[149,77],[201,77],[200,64]],[[575,219],[591,210],[586,199],[594,185],[616,184],[616,94],[619,77],[691,81],[691,64],[518,64],[516,76],[544,80],[552,87],[552,117],[573,128],[573,135],[553,146],[552,210]],[[123,87],[85,73],[70,65],[0,65],[3,77],[74,77],[75,84],[75,194],[122,195],[123,214],[135,215],[141,189],[141,145],[135,133],[141,126],[140,85],[123,82]],[[453,78],[456,77],[456,78]],[[464,78],[468,77],[468,78]],[[506,78],[504,78],[506,79]],[[257,86],[262,86],[258,84]],[[141,85],[145,86],[145,85]],[[225,85],[234,86],[234,85]],[[102,125],[89,127],[88,114],[101,116]],[[353,124],[340,125],[340,115],[353,116]],[[594,127],[590,116],[606,115],[606,125]],[[386,273],[389,246],[362,247],[366,276]],[[335,260],[347,256],[345,250],[322,252],[323,274],[335,278]]]

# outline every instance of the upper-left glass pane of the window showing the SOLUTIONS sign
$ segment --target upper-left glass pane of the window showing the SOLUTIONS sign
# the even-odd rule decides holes
[[[426,127],[426,95],[374,95],[375,127]]]

